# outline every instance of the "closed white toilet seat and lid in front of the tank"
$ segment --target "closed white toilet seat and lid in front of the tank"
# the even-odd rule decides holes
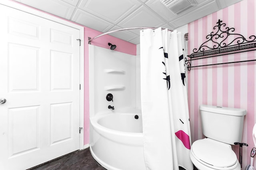
[[[213,139],[205,138],[195,141],[190,152],[190,156],[209,168],[233,170],[239,165],[231,145]]]

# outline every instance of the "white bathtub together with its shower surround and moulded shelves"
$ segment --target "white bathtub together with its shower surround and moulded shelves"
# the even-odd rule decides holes
[[[89,57],[92,156],[108,170],[146,170],[138,57],[93,45]]]

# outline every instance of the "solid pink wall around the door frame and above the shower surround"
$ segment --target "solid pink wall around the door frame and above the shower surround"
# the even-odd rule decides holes
[[[16,1],[10,0],[12,2],[18,3]],[[23,6],[26,6],[24,4],[21,4]],[[29,8],[32,8],[30,6],[27,6]],[[37,10],[35,8],[32,8],[34,10]],[[40,10],[37,10],[40,11]],[[43,11],[41,11],[43,12]],[[43,12],[48,14],[47,12]],[[52,14],[49,14],[51,16],[54,16]],[[58,16],[55,16],[56,18],[60,18]],[[66,19],[60,18],[62,20],[68,21]],[[69,21],[71,23],[74,23],[72,21]],[[77,24],[77,23],[75,23]],[[80,25],[80,24],[77,24]],[[83,26],[83,25],[80,25]],[[84,27],[84,26],[83,26]],[[102,32],[96,31],[94,29],[84,27],[84,145],[89,144],[89,45],[88,45],[88,37],[96,37],[97,35],[100,35]],[[95,39],[94,41],[91,41],[92,45],[96,45],[98,47],[103,47],[110,49],[110,46],[108,46],[108,43],[112,43],[116,45],[115,51],[119,51],[122,53],[130,54],[130,55],[136,55],[136,45],[129,43],[127,41],[124,41],[122,39],[118,39],[116,37],[113,37],[111,35],[104,35],[102,37],[99,37],[98,39]]]

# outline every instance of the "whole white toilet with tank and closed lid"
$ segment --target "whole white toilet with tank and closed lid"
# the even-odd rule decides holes
[[[231,148],[241,142],[245,109],[200,105],[204,139],[195,141],[190,158],[198,170],[240,170]]]

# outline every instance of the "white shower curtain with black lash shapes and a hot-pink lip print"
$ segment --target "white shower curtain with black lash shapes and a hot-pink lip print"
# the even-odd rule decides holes
[[[161,28],[140,31],[140,66],[147,170],[193,170],[184,36]]]

